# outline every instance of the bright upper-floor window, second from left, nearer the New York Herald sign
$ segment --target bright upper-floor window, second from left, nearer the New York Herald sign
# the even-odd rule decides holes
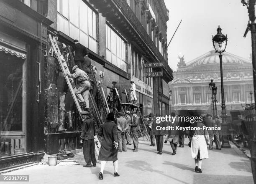
[[[126,42],[106,24],[106,51],[107,60],[127,71]]]

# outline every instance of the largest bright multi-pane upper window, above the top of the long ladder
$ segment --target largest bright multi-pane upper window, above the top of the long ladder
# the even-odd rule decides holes
[[[95,53],[97,49],[97,14],[82,0],[58,0],[58,30]]]

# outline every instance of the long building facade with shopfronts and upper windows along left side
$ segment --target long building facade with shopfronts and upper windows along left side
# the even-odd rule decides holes
[[[81,121],[51,52],[49,34],[58,38],[60,49],[74,46],[74,39],[88,48],[106,96],[116,81],[126,102],[124,89],[131,88],[133,80],[143,115],[168,110],[167,83],[173,77],[167,61],[164,0],[1,0],[0,4],[0,170],[34,163],[58,149],[81,148]],[[156,62],[165,67],[143,68],[143,63]],[[145,72],[159,70],[163,76],[145,77]]]

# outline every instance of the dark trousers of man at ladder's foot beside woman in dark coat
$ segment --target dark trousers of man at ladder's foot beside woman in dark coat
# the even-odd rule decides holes
[[[83,152],[86,164],[96,164],[94,139],[83,141]]]

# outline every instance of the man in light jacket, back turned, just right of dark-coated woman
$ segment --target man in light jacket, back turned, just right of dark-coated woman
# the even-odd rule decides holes
[[[125,139],[125,130],[127,129],[127,120],[124,118],[124,114],[122,112],[118,112],[117,118],[117,128],[118,128],[118,146],[119,152],[127,151],[126,148],[126,139]]]

